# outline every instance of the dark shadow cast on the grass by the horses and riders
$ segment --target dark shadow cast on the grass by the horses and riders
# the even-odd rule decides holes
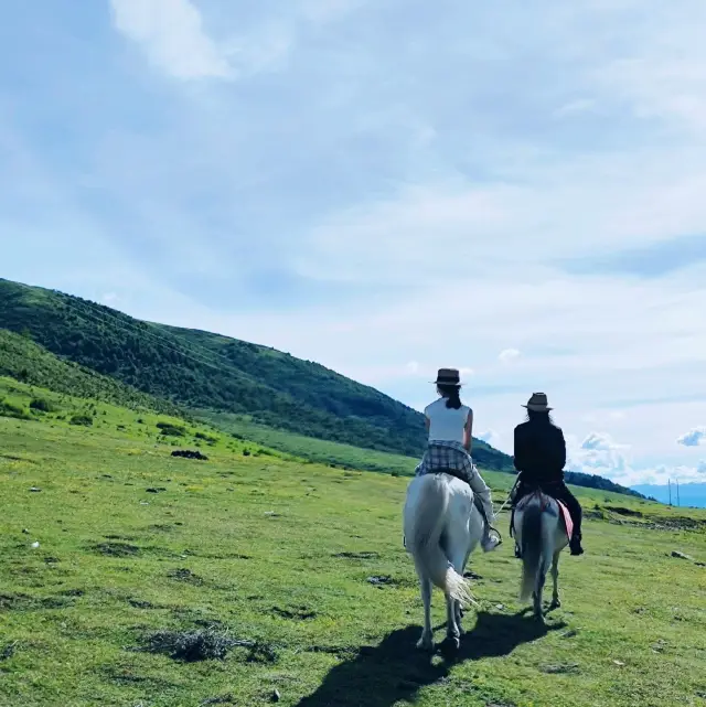
[[[333,667],[297,707],[392,707],[399,700],[414,701],[419,689],[448,677],[453,665],[510,655],[517,646],[566,626],[543,625],[524,618],[525,613],[479,612],[475,626],[461,639],[461,647],[441,661],[415,647],[420,626],[393,631],[377,646],[363,646],[354,657]]]

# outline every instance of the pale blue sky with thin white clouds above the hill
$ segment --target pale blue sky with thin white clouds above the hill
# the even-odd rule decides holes
[[[0,276],[706,482],[702,0],[75,0],[0,23]]]

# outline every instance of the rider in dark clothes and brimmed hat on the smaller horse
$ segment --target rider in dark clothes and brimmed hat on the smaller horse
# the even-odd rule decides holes
[[[523,407],[527,409],[527,421],[515,427],[514,462],[520,479],[514,504],[536,489],[561,501],[574,521],[574,534],[569,540],[571,555],[582,555],[581,505],[564,483],[564,432],[554,424],[549,415],[552,408],[544,393],[534,393]]]

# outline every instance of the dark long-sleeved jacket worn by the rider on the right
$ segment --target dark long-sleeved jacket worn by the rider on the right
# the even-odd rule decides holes
[[[564,481],[566,442],[561,428],[537,421],[517,425],[514,462],[524,482]]]

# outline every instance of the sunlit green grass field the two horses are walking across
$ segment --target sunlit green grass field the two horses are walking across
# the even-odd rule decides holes
[[[0,399],[30,418],[0,417],[2,707],[706,705],[706,512],[579,490],[587,555],[563,557],[548,628],[505,538],[471,558],[481,607],[446,663],[414,647],[408,480],[9,379]],[[170,456],[196,443],[208,461]],[[486,479],[502,502],[513,478]],[[224,656],[148,650],[164,631]]]

